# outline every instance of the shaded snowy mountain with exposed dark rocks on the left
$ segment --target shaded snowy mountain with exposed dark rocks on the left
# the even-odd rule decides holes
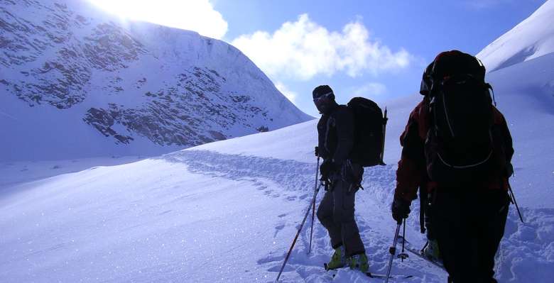
[[[310,119],[239,50],[76,0],[0,1],[2,160],[151,155]]]

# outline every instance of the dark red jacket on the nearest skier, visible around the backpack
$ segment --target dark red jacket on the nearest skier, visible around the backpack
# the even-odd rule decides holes
[[[504,132],[506,160],[510,162],[514,149],[512,148],[511,135],[506,124],[506,119],[494,106],[493,112],[494,124],[500,126]],[[430,181],[426,170],[424,145],[428,129],[429,113],[427,107],[425,107],[424,99],[410,113],[408,125],[406,125],[404,132],[400,136],[400,144],[403,148],[401,160],[398,161],[398,170],[396,170],[396,189],[394,195],[401,197],[408,201],[408,203],[416,199],[418,188],[420,187],[421,189],[427,189],[428,192],[441,187],[441,184]],[[491,178],[487,182],[474,184],[474,187],[508,189],[508,179],[507,177],[502,177],[499,181],[497,178]]]

